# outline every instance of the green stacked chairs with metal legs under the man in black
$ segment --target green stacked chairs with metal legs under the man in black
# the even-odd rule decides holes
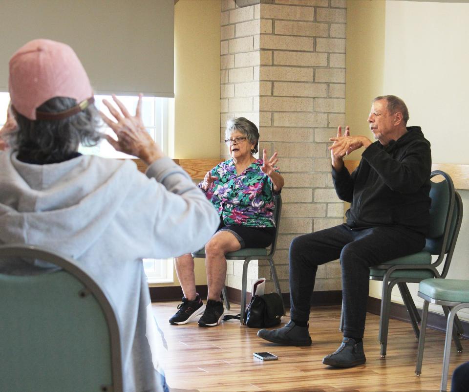
[[[456,246],[459,229],[461,227],[463,204],[461,196],[454,190],[451,177],[440,170],[431,172],[430,178],[430,230],[426,238],[425,248],[415,254],[393,259],[370,268],[370,280],[383,282],[381,296],[381,317],[378,340],[381,346],[381,356],[386,356],[387,335],[389,327],[389,311],[391,307],[391,292],[397,284],[402,299],[409,313],[411,325],[416,338],[419,338],[420,315],[414,304],[406,283],[420,283],[428,278],[445,278]],[[436,182],[435,179],[440,180]],[[432,261],[432,255],[437,256]],[[443,264],[441,274],[437,267]],[[444,307],[445,313],[448,308]],[[462,331],[461,323],[457,320],[458,329]],[[341,330],[343,318],[341,317]],[[462,333],[462,332],[461,332]],[[457,337],[456,337],[457,339]],[[458,347],[461,347],[457,339]]]

